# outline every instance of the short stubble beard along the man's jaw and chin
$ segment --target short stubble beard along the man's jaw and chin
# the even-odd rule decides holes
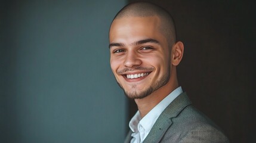
[[[161,88],[162,86],[166,85],[166,83],[168,83],[169,78],[170,78],[170,71],[171,71],[171,64],[169,63],[166,74],[164,74],[159,80],[157,80],[154,85],[150,85],[148,88],[144,89],[143,91],[136,90],[135,88],[137,85],[132,86],[132,89],[135,89],[135,90],[125,91],[123,86],[119,82],[117,82],[117,83],[123,89],[124,94],[129,99],[131,99],[131,100],[142,99],[142,98],[149,96],[150,94],[152,94],[153,92],[155,92],[156,90]]]

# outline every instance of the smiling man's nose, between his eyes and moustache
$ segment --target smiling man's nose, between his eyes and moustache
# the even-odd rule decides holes
[[[125,61],[124,61],[124,66],[125,67],[135,67],[135,66],[140,66],[142,61],[138,57],[138,55],[135,52],[128,52]]]

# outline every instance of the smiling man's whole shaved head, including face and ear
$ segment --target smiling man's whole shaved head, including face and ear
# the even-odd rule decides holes
[[[177,88],[175,66],[183,43],[176,42],[171,15],[158,5],[135,2],[122,8],[109,29],[109,50],[111,69],[127,97],[159,97]]]

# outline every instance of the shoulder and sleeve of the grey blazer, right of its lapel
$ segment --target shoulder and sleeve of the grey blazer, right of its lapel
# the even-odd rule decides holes
[[[193,105],[187,105],[171,119],[162,142],[229,142],[221,129]]]

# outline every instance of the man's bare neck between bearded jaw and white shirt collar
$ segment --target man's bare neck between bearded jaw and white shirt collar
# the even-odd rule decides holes
[[[152,108],[159,104],[167,95],[169,95],[174,89],[178,88],[178,80],[176,77],[175,70],[172,71],[172,76],[166,85],[162,86],[158,90],[154,91],[152,94],[148,95],[143,99],[135,99],[138,106],[138,111],[140,111],[140,116],[143,118],[149,113]]]

